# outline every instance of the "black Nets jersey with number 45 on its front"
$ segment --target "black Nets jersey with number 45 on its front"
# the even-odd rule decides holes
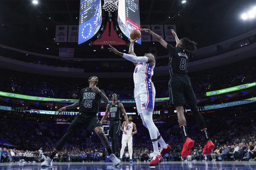
[[[105,95],[105,92],[100,89],[100,91]],[[91,88],[86,87],[81,90],[79,100],[81,100],[81,105],[79,112],[81,113],[98,113],[98,105],[101,102],[101,96],[98,92],[92,91]]]

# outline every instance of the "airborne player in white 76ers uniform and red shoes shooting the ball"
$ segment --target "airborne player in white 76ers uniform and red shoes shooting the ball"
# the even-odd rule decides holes
[[[153,145],[153,158],[149,163],[149,166],[157,166],[162,162],[162,155],[165,155],[170,150],[170,146],[167,145],[157,127],[153,123],[152,115],[154,109],[155,88],[151,81],[153,75],[153,69],[155,66],[155,56],[151,53],[145,53],[144,56],[137,57],[133,52],[134,42],[137,40],[130,39],[129,54],[117,51],[111,45],[108,48],[111,52],[122,56],[123,58],[132,61],[135,65],[133,72],[134,81],[134,99],[136,102],[137,112],[139,113],[143,125],[148,129],[149,135]],[[159,142],[162,150],[158,151]]]

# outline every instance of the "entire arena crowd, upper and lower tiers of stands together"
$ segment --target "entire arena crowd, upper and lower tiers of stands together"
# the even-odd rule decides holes
[[[197,95],[205,99],[205,92],[224,89],[245,83],[256,81],[255,59],[232,63],[219,68],[212,68],[206,71],[191,72],[192,87]],[[96,75],[97,76],[97,75]],[[57,81],[56,81],[57,80]],[[156,89],[156,98],[168,97],[167,82],[168,76],[153,77]],[[82,79],[56,78],[51,76],[38,76],[33,74],[18,73],[10,70],[0,69],[0,91],[17,93],[30,96],[52,97],[61,99],[77,99],[82,88],[87,87],[87,77]],[[133,99],[132,77],[107,79],[99,78],[98,86],[106,94],[115,92],[120,95],[119,99]],[[202,97],[203,96],[203,97]],[[252,97],[250,94],[226,97],[212,100],[206,98],[199,100],[198,106],[207,104],[219,104],[239,99]],[[21,103],[0,100],[1,106],[18,108],[22,110]],[[255,161],[256,152],[256,128],[254,119],[254,106],[242,107],[242,109],[217,110],[215,115],[203,115],[215,148],[209,155],[202,155],[203,139],[197,126],[195,118],[186,115],[187,127],[190,138],[195,142],[190,155],[182,159],[182,136],[177,124],[176,117],[168,115],[154,117],[155,124],[159,129],[164,141],[171,146],[171,152],[164,156],[166,161]],[[26,105],[23,107],[30,107]],[[46,105],[38,105],[36,109],[48,110]],[[136,112],[134,105],[124,105],[126,112]],[[31,106],[34,108],[34,106]],[[58,108],[56,106],[56,108]],[[253,109],[251,109],[253,108]],[[55,109],[55,108],[54,108]],[[166,106],[155,103],[155,109],[166,109]],[[28,109],[29,110],[29,109]],[[105,110],[105,105],[100,111]],[[27,114],[3,114],[0,111],[0,139],[4,139],[14,146],[1,146],[3,162],[41,162],[46,158],[56,143],[66,132],[68,124],[56,124],[55,118],[49,115],[41,115],[33,118]],[[227,112],[227,113],[226,113]],[[15,113],[15,112],[14,112]],[[70,118],[70,121],[74,117]],[[46,121],[45,121],[46,120]],[[242,121],[242,122],[241,122]],[[161,122],[161,123],[157,123]],[[133,161],[148,161],[152,148],[149,134],[141,133],[145,127],[140,117],[134,119],[137,127],[137,134],[133,137]],[[121,137],[119,138],[119,144]],[[144,141],[141,143],[141,141]],[[38,151],[42,147],[43,154]],[[102,144],[89,129],[84,129],[64,146],[63,150],[53,159],[56,162],[98,162],[106,161],[106,151]],[[122,160],[127,160],[127,149]]]

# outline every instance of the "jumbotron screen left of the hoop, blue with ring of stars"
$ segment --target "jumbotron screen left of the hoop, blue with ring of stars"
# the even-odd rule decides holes
[[[100,0],[80,0],[78,44],[93,37],[102,22]]]

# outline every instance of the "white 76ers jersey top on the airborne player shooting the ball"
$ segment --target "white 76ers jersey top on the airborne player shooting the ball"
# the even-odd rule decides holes
[[[151,81],[152,75],[154,73],[153,68],[154,65],[151,65],[149,63],[137,63],[135,70],[133,72],[134,85],[141,81],[144,81],[145,79],[149,79],[149,81]]]

